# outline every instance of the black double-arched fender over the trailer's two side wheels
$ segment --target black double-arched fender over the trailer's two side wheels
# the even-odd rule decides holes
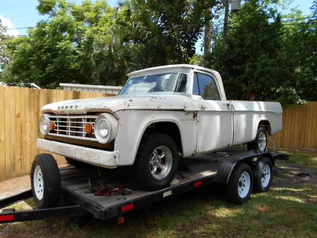
[[[227,184],[235,167],[240,163],[248,164],[251,167],[252,171],[254,171],[255,167],[262,159],[262,157],[269,158],[272,162],[273,167],[275,166],[274,159],[269,152],[259,152],[255,150],[254,154],[251,155],[244,155],[244,153],[229,155],[221,162],[217,171],[215,182],[220,184]]]

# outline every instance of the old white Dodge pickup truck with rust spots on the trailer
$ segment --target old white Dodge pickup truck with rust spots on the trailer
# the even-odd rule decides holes
[[[179,64],[128,76],[116,97],[44,106],[44,138],[37,147],[65,156],[74,166],[132,166],[143,187],[156,190],[175,176],[179,154],[189,157],[243,143],[264,151],[267,134],[282,129],[279,103],[227,100],[214,70]]]

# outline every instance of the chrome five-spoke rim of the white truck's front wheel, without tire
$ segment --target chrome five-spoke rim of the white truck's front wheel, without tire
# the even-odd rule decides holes
[[[152,152],[149,169],[155,179],[164,179],[170,172],[173,155],[165,145],[160,145]]]

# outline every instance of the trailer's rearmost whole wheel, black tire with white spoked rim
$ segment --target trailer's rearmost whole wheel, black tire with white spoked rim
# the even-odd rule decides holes
[[[269,158],[264,157],[259,161],[254,170],[254,189],[258,192],[269,190],[273,179],[273,166]]]

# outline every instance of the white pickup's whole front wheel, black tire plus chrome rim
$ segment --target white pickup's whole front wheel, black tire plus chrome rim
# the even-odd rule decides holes
[[[150,134],[142,139],[134,169],[139,184],[147,190],[166,187],[178,167],[175,141],[166,134]]]

